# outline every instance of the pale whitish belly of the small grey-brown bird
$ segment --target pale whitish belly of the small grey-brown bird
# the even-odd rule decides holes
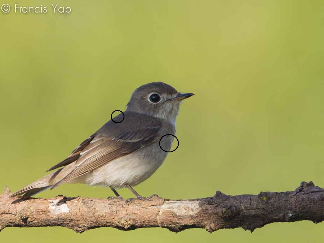
[[[87,184],[110,186],[114,189],[125,185],[135,186],[149,178],[161,166],[167,154],[158,143],[154,143],[88,173]]]

